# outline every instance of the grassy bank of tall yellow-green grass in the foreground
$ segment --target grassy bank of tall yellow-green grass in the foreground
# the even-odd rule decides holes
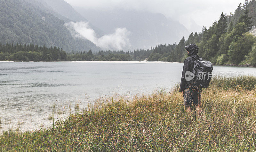
[[[184,112],[178,87],[132,100],[104,99],[47,129],[4,132],[0,151],[255,150],[256,90],[246,87],[255,82],[213,81],[202,92],[200,120]]]

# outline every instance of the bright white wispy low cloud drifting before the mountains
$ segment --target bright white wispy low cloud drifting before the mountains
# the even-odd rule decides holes
[[[126,28],[117,28],[115,33],[97,38],[95,31],[88,22],[69,22],[64,24],[74,38],[86,38],[103,49],[123,50],[131,47],[128,36],[131,34]]]

